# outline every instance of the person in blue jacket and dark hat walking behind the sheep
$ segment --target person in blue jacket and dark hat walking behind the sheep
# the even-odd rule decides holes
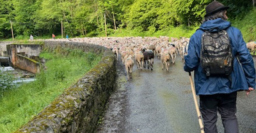
[[[239,132],[236,118],[237,91],[246,90],[248,95],[255,88],[255,67],[252,55],[246,48],[239,29],[232,27],[227,21],[228,8],[218,1],[213,1],[206,6],[204,21],[200,29],[191,36],[188,55],[184,57],[184,70],[195,71],[195,89],[196,95],[200,97],[200,111],[204,120],[205,133],[217,132],[217,112],[221,115],[225,133]],[[219,32],[223,32],[221,39],[227,41],[225,46],[218,45],[221,43],[218,41],[219,37],[211,39],[212,34],[216,35]],[[205,39],[207,35],[210,39]],[[208,42],[209,40],[217,41]],[[212,48],[216,49],[209,52]],[[203,53],[204,50],[208,51]],[[227,54],[221,55],[225,52]],[[217,55],[211,55],[211,53]],[[227,56],[228,59],[221,62],[227,66],[222,68],[223,74],[219,73],[221,71],[213,71],[212,69],[219,64],[212,63],[216,65],[212,67],[211,60],[205,60],[204,56],[208,59],[216,58],[216,60]]]

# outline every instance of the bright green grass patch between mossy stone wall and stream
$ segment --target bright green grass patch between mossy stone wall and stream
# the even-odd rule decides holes
[[[0,99],[1,133],[19,129],[101,59],[101,55],[79,50],[71,51],[68,56],[42,52],[40,57],[47,60],[47,70],[36,74],[36,81],[9,90]]]

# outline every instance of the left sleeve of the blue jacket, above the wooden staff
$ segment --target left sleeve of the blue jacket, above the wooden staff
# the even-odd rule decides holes
[[[184,71],[194,71],[199,64],[198,45],[196,45],[195,34],[191,36],[188,45],[188,55],[184,56]],[[196,54],[197,53],[197,54]]]

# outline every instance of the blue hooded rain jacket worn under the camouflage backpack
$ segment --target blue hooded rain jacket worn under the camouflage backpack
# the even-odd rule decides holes
[[[255,88],[255,67],[252,55],[239,29],[232,27],[230,22],[221,18],[209,20],[200,25],[200,29],[209,30],[218,27],[225,29],[232,45],[234,57],[233,71],[230,78],[207,77],[200,64],[201,36],[202,30],[197,30],[190,38],[188,55],[184,57],[184,71],[195,71],[196,95],[229,94],[238,90],[248,90],[248,87]]]

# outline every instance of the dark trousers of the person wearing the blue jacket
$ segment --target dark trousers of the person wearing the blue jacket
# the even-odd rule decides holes
[[[236,118],[237,92],[232,92],[231,94],[199,95],[199,97],[205,133],[217,132],[217,112],[221,115],[225,133],[238,133]]]

